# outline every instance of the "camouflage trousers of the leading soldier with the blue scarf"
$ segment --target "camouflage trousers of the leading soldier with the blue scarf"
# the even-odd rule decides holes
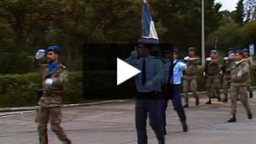
[[[67,135],[60,126],[62,121],[62,108],[38,108],[37,116],[37,131],[39,134],[40,144],[48,144],[47,125],[50,122],[51,129],[56,133],[60,141],[66,141]]]

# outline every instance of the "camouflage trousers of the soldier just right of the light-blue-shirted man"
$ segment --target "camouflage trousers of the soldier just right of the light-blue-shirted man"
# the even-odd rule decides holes
[[[184,92],[184,99],[187,102],[188,101],[188,92],[189,90],[192,91],[194,98],[198,99],[199,96],[197,94],[197,82],[196,82],[196,78],[192,78],[192,79],[184,79],[183,80],[183,92]]]

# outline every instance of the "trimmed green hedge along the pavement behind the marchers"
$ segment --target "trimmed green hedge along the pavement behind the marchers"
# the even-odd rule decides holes
[[[198,71],[198,90],[205,90],[202,68]],[[252,67],[256,76],[256,66]],[[253,81],[253,85],[256,82]],[[41,88],[42,78],[37,73],[0,75],[0,108],[36,105],[36,89]],[[63,103],[95,100],[127,99],[135,97],[135,80],[116,86],[116,71],[69,72]]]

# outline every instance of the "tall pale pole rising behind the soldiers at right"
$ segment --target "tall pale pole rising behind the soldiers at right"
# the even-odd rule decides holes
[[[201,0],[201,65],[205,65],[205,2]]]

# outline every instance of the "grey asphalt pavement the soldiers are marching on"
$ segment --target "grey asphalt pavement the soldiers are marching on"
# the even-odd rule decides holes
[[[255,91],[254,91],[255,92]],[[186,108],[188,132],[184,133],[171,102],[167,108],[167,144],[254,144],[256,141],[256,95],[250,99],[253,119],[239,103],[237,122],[228,123],[230,103],[213,100],[204,104],[206,95],[200,95],[200,106]],[[77,106],[77,105],[75,105]],[[136,144],[135,102],[112,101],[80,107],[63,108],[62,127],[73,144]],[[36,144],[38,136],[33,108],[0,113],[0,144]],[[49,143],[61,144],[49,128]],[[148,126],[148,144],[156,144]]]

